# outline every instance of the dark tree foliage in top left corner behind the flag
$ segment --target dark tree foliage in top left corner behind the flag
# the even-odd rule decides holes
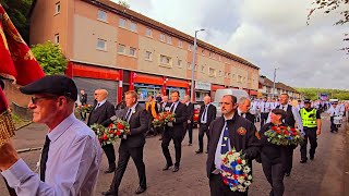
[[[12,23],[20,32],[25,42],[29,41],[29,24],[27,14],[31,10],[33,0],[0,0],[1,5],[7,11]]]

